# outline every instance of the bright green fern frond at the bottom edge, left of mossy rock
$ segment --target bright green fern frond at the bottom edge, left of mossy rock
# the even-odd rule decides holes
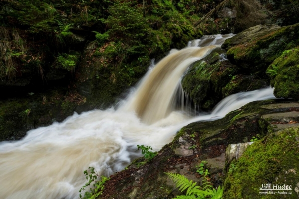
[[[218,189],[214,189],[210,186],[206,186],[206,190],[202,190],[202,188],[193,181],[189,181],[185,176],[180,174],[173,173],[165,173],[169,178],[171,178],[175,183],[176,187],[179,188],[179,191],[183,192],[186,190],[185,196],[176,196],[174,199],[221,199],[223,194],[223,188],[220,186]]]

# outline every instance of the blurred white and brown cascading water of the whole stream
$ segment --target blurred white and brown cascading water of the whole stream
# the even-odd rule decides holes
[[[234,94],[212,113],[191,119],[175,110],[175,93],[187,67],[231,36],[208,36],[171,51],[116,110],[75,113],[62,123],[28,131],[20,141],[0,143],[1,198],[79,198],[88,167],[110,175],[140,156],[137,144],[159,150],[191,122],[215,120],[248,102],[274,98],[271,88]]]

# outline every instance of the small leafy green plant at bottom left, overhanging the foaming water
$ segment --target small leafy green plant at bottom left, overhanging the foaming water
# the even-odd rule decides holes
[[[95,199],[95,198],[97,198],[99,195],[101,195],[103,193],[104,184],[106,183],[106,181],[109,180],[109,178],[105,177],[105,176],[101,176],[101,178],[100,178],[100,176],[98,175],[98,173],[94,167],[89,167],[88,169],[90,170],[89,172],[87,170],[85,170],[83,172],[85,174],[88,182],[85,183],[85,185],[82,186],[82,188],[79,190],[80,199]],[[92,185],[92,188],[90,188],[90,191],[85,190],[86,187],[90,186],[92,183],[93,183],[93,185]],[[84,196],[82,196],[83,191],[85,191]]]

